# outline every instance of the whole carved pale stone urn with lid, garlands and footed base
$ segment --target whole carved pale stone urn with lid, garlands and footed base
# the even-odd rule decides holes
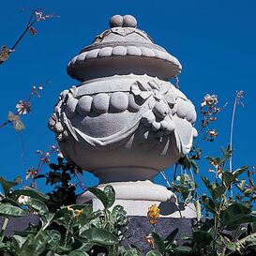
[[[111,184],[128,215],[174,200],[153,178],[188,154],[197,132],[193,104],[170,79],[179,61],[137,28],[130,15],[115,15],[110,28],[68,63],[80,83],[61,93],[49,121],[68,162]],[[97,200],[90,192],[79,203]]]

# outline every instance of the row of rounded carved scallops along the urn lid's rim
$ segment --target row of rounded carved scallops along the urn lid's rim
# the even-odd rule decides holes
[[[173,66],[175,66],[178,70],[182,69],[179,61],[170,53],[146,47],[120,45],[114,47],[104,47],[101,49],[93,49],[88,52],[80,53],[72,58],[72,60],[68,63],[68,67],[82,64],[86,60],[90,59],[100,59],[113,56],[142,56],[148,58],[155,58],[172,63]]]

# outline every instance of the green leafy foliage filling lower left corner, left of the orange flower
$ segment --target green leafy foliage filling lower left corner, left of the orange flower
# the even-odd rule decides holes
[[[54,213],[47,207],[49,197],[34,188],[13,190],[5,184],[7,193],[5,201],[0,203],[0,216],[7,219],[2,230],[8,226],[8,218],[21,217],[36,212],[41,219],[38,226],[31,226],[23,233],[8,237],[1,233],[0,254],[39,256],[39,255],[106,255],[114,251],[118,255],[118,247],[123,239],[122,228],[128,224],[126,212],[120,205],[113,211],[105,208],[93,212],[89,204],[72,204],[62,206]],[[98,199],[107,199],[107,207],[114,202],[114,190],[105,188],[98,193]],[[22,196],[22,201],[19,199]],[[8,203],[15,202],[17,205]],[[21,202],[21,203],[19,203]],[[98,251],[98,254],[94,254]],[[120,252],[121,253],[121,252]]]

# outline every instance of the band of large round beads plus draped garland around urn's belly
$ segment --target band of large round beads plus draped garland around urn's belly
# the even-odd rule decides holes
[[[128,93],[98,93],[78,97],[77,91],[77,87],[73,86],[70,90],[62,92],[50,118],[49,127],[55,132],[59,142],[73,139],[88,148],[104,150],[121,146],[131,138],[126,146],[132,147],[133,143],[148,143],[148,146],[142,147],[146,150],[156,143],[169,143],[173,136],[178,154],[185,155],[197,134],[193,128],[196,120],[193,104],[171,83],[158,79],[148,82],[137,80],[129,86]],[[129,112],[136,114],[126,128],[102,138],[94,138],[73,124],[78,116],[83,120],[90,115],[98,117],[101,114]],[[179,132],[180,121],[189,128],[190,139],[187,141],[184,140],[183,133]],[[143,130],[140,137],[132,137],[138,133],[138,129]],[[164,138],[168,140],[165,141]]]

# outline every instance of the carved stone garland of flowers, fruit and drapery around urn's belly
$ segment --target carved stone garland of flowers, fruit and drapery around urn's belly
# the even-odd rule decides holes
[[[178,133],[175,132],[172,111],[176,104],[177,96],[170,85],[168,83],[160,84],[158,80],[152,80],[148,83],[136,81],[131,84],[130,93],[135,99],[143,102],[141,108],[127,128],[111,136],[93,138],[72,126],[65,107],[68,105],[68,102],[70,103],[74,99],[77,100],[77,88],[75,86],[61,93],[59,102],[55,106],[54,113],[49,120],[49,127],[53,129],[59,142],[65,142],[71,137],[86,147],[106,149],[127,141],[139,126],[143,125],[148,130],[143,136],[145,141],[155,138],[158,143],[161,143],[163,137],[168,137],[169,139],[174,137],[175,147],[177,147],[178,152],[187,154],[191,145],[189,143],[184,145]],[[172,133],[173,135],[171,135]]]

